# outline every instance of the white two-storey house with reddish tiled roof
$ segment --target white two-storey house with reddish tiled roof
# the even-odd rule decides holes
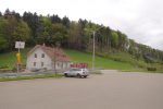
[[[27,53],[27,70],[62,70],[71,66],[70,58],[60,48],[35,46]]]

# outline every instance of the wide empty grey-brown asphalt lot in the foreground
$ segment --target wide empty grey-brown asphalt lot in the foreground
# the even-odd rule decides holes
[[[163,109],[163,74],[0,82],[0,109]]]

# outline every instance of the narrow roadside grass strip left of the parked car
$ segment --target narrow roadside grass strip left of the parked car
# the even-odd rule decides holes
[[[33,76],[16,76],[16,77],[0,77],[0,82],[5,82],[5,81],[20,81],[20,80],[34,80],[34,78],[60,78],[62,77],[62,74],[37,74]]]

